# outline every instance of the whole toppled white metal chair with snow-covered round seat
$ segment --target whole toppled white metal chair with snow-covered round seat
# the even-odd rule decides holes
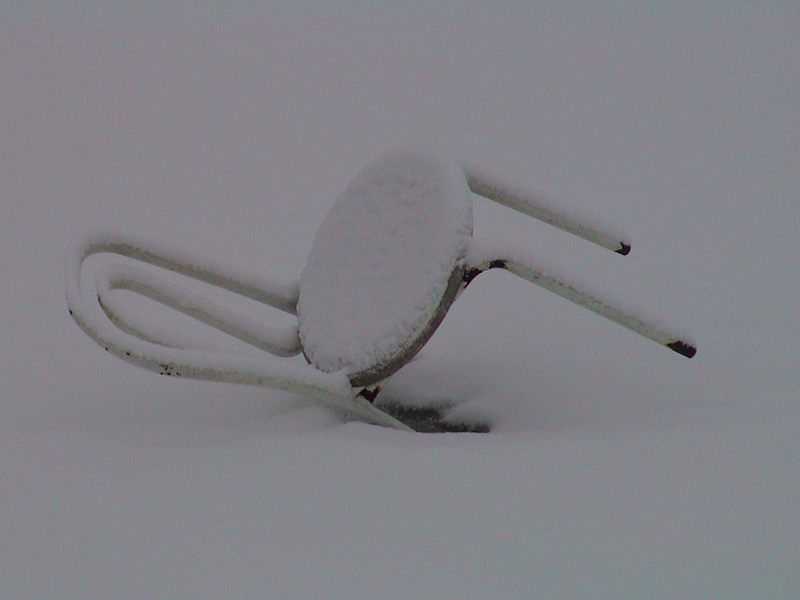
[[[524,191],[439,152],[400,148],[369,164],[324,218],[299,281],[234,273],[213,261],[120,234],[76,244],[66,260],[69,312],[100,346],[162,375],[296,392],[379,425],[409,427],[377,408],[386,380],[428,341],[453,301],[479,273],[502,268],[691,357],[680,338],[548,276],[525,250],[472,237],[472,193],[619,254],[630,246],[542,207]],[[95,274],[97,301],[81,293],[84,259],[115,253],[229,290],[290,314],[297,326],[269,327],[215,303],[153,269],[110,265]],[[157,327],[125,317],[112,291],[136,292],[277,356],[307,364],[194,350]]]

